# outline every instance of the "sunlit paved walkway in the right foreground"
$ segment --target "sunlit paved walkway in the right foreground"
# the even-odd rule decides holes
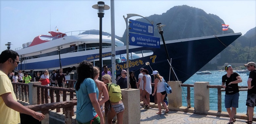
[[[164,114],[156,114],[158,108],[145,110],[141,108],[141,124],[228,124],[229,118],[214,115],[199,115],[195,113],[170,111]],[[245,120],[236,119],[234,124],[245,124]]]

